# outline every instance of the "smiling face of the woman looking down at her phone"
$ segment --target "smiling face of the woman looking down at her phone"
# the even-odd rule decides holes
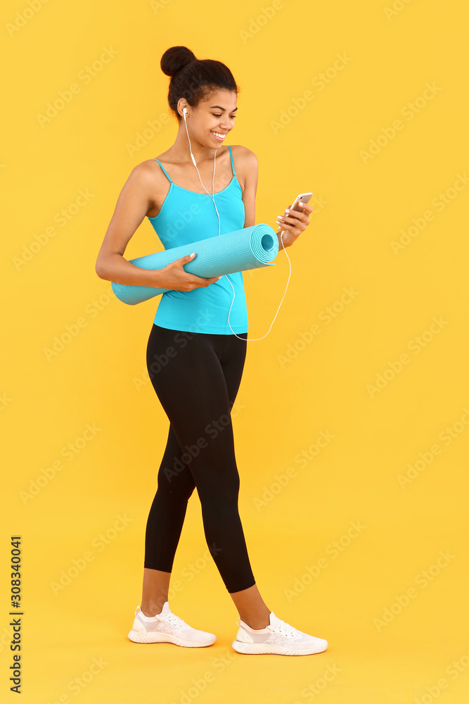
[[[191,139],[194,137],[207,149],[218,149],[226,134],[233,130],[237,97],[236,92],[217,90],[195,108],[188,106],[187,126]]]

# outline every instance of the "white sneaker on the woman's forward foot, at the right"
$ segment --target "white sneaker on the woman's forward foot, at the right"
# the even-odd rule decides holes
[[[325,639],[299,631],[277,618],[273,611],[270,612],[269,620],[269,626],[255,630],[238,616],[236,623],[240,629],[236,641],[233,641],[233,649],[247,655],[313,655],[322,653],[328,647]]]

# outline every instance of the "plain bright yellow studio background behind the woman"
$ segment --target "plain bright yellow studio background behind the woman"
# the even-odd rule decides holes
[[[4,4],[2,700],[17,700],[8,683],[9,539],[20,534],[23,702],[467,701],[469,12],[456,0],[392,6]],[[160,117],[169,114],[160,58],[177,44],[226,63],[242,89],[229,144],[259,158],[256,222],[276,227],[299,191],[316,199],[311,224],[288,249],[293,273],[271,332],[248,343],[233,409],[257,584],[278,617],[328,639],[314,656],[232,650],[237,612],[207,553],[196,493],[169,603],[217,643],[127,640],[167,436],[145,368],[159,299],[125,306],[94,264],[131,169],[176,137],[175,120]],[[103,47],[117,53],[85,82]],[[347,65],[334,68],[344,55]],[[38,115],[73,82],[79,92],[41,126]],[[313,97],[294,115],[307,90]],[[282,111],[290,121],[278,129]],[[131,156],[147,120],[161,129]],[[392,135],[395,120],[401,129]],[[80,189],[89,202],[60,226],[56,214],[70,213]],[[428,211],[432,220],[394,253],[401,231]],[[53,226],[56,234],[18,265]],[[125,256],[160,248],[144,221]],[[266,333],[285,290],[285,253],[276,261],[245,275],[249,337]],[[356,294],[340,303],[345,289]],[[76,336],[48,359],[54,338],[79,318]],[[321,332],[308,338],[315,324]],[[384,382],[373,391],[378,375]],[[99,430],[80,442],[86,424]],[[333,439],[300,465],[321,432]],[[79,452],[66,458],[63,448],[77,440]],[[58,460],[62,469],[39,486]],[[416,463],[414,478],[399,483]],[[294,476],[276,484],[288,467]],[[120,516],[127,524],[116,531]],[[347,537],[352,522],[363,528]],[[54,592],[85,553],[90,560]],[[309,578],[318,561],[327,564]],[[90,676],[93,662],[101,669]]]

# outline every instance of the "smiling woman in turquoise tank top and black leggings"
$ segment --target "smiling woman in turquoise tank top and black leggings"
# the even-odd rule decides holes
[[[174,615],[167,601],[188,498],[197,488],[207,545],[239,612],[233,648],[249,654],[319,653],[326,650],[326,640],[291,627],[264,603],[238,513],[240,480],[230,412],[248,335],[243,274],[195,276],[184,270],[193,255],[157,271],[124,259],[145,217],[165,249],[255,224],[257,158],[244,146],[222,146],[238,110],[239,89],[231,71],[219,61],[198,61],[185,46],[167,49],[161,69],[171,76],[168,101],[179,123],[176,140],[159,158],[132,170],[96,260],[102,279],[169,289],[160,299],[146,353],[169,433],[146,526],[141,607],[134,612],[129,639],[189,647],[216,640]],[[210,180],[213,196],[205,187]],[[311,210],[303,204],[301,213],[278,217],[283,246],[291,246],[304,231]]]

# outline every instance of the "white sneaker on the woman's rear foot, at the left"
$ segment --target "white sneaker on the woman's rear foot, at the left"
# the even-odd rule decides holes
[[[140,606],[137,606],[134,614],[134,625],[129,631],[129,639],[134,643],[174,643],[176,646],[203,648],[217,640],[217,636],[212,633],[188,626],[172,612],[167,601],[162,612],[156,616],[146,616]]]

